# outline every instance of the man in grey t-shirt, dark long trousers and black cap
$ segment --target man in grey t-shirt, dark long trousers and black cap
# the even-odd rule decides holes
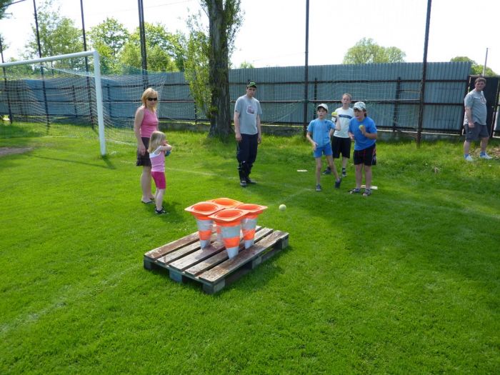
[[[246,94],[240,96],[234,105],[234,132],[236,134],[236,159],[238,159],[239,184],[255,184],[250,179],[251,167],[257,157],[257,145],[261,143],[261,104],[254,98],[255,82],[246,85]]]

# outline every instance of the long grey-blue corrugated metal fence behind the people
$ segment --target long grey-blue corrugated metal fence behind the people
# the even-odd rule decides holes
[[[470,64],[464,62],[429,63],[424,98],[424,131],[459,134],[463,119],[463,99],[468,90]],[[232,69],[229,72],[231,101],[245,93],[246,83],[256,81],[256,98],[261,101],[262,121],[267,124],[302,125],[314,119],[319,103],[340,106],[342,94],[353,101],[365,101],[369,116],[381,129],[415,130],[419,116],[421,63],[309,66],[308,96],[304,98],[304,66]],[[202,121],[183,73],[155,73],[147,76],[149,86],[159,91],[159,117],[162,121]],[[45,79],[49,116],[67,121],[92,117],[86,98],[89,80],[77,76],[68,80]],[[9,84],[10,85],[10,84]],[[6,91],[1,91],[1,113],[8,113]],[[92,81],[90,80],[90,86]],[[144,76],[106,76],[102,80],[104,111],[111,123],[129,126],[144,90]],[[1,85],[0,85],[1,86]],[[22,90],[31,91],[28,101],[9,91],[15,116],[40,116],[44,94],[40,80],[25,80]],[[19,90],[19,89],[17,89]],[[18,93],[19,94],[19,93]],[[92,97],[94,97],[92,95]],[[92,99],[94,100],[94,99]]]

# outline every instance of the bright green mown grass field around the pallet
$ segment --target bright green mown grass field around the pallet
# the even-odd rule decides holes
[[[169,132],[155,216],[134,146],[0,127],[25,148],[0,156],[0,374],[499,372],[499,159],[379,142],[363,198],[353,166],[317,193],[307,142],[264,136],[241,189],[234,143]],[[143,268],[222,196],[269,206],[259,224],[289,247],[215,295]]]

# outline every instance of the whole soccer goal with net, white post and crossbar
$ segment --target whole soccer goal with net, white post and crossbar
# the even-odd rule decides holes
[[[51,136],[99,139],[102,155],[106,144],[134,144],[141,95],[154,87],[161,103],[166,79],[111,64],[96,51],[0,64],[0,115]]]

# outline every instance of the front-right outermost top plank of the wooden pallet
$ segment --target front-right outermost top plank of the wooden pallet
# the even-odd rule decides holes
[[[261,253],[269,249],[270,246],[276,244],[276,242],[281,241],[284,238],[288,238],[289,234],[282,231],[274,231],[265,239],[262,239],[258,243],[251,246],[251,248],[241,251],[233,259],[228,259],[212,269],[199,274],[200,280],[209,282],[211,284],[216,284],[219,280],[226,278],[232,272],[239,269],[244,264],[252,261]]]

